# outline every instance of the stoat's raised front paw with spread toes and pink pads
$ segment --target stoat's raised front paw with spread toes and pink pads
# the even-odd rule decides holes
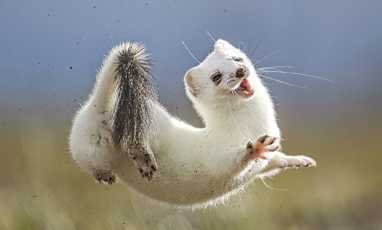
[[[254,143],[248,141],[246,146],[245,160],[255,160],[258,158],[265,159],[263,153],[265,152],[274,152],[280,148],[280,146],[275,143],[277,140],[276,137],[269,137],[268,135],[263,135],[258,138]]]

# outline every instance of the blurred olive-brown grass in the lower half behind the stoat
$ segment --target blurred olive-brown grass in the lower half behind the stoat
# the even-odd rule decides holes
[[[191,211],[152,204],[119,183],[96,184],[68,153],[70,114],[1,116],[0,229],[382,229],[379,116],[294,111],[298,117],[280,122],[283,151],[317,167],[265,180],[287,191],[257,181],[228,207]]]

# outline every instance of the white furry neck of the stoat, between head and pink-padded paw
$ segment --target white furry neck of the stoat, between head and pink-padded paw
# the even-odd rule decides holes
[[[268,94],[255,96],[251,100],[222,100],[214,105],[200,104],[195,106],[203,117],[207,130],[213,136],[237,140],[245,143],[248,139],[255,140],[263,134],[280,136],[276,124],[275,112]],[[235,141],[235,142],[237,142]]]

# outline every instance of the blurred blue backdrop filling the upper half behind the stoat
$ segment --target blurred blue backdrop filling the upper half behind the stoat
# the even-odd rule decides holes
[[[153,54],[154,83],[172,113],[190,114],[183,76],[214,41],[252,59],[279,50],[256,68],[316,75],[265,76],[280,109],[376,103],[381,108],[382,1],[24,1],[0,2],[0,113],[74,111],[95,82],[103,55],[121,41],[142,41]],[[248,52],[248,49],[245,50]],[[371,106],[373,107],[373,106]],[[186,112],[187,114],[185,114]],[[195,118],[196,116],[193,116]]]

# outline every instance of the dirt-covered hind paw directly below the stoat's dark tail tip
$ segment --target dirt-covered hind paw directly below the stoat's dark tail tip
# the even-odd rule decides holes
[[[151,150],[137,144],[131,144],[128,151],[138,172],[142,174],[142,178],[147,177],[148,181],[151,181],[153,174],[158,170],[158,165]]]

